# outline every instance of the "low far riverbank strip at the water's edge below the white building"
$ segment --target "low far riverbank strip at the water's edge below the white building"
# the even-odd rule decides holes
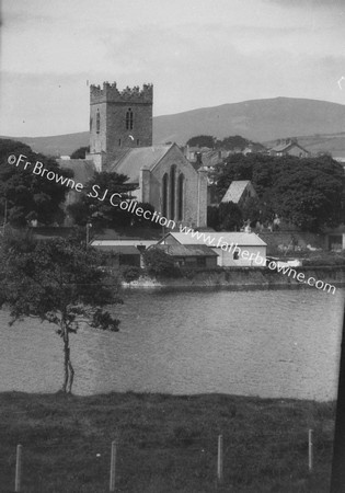
[[[317,289],[306,283],[297,280],[298,274],[302,273],[304,279],[313,277],[324,285],[341,288],[345,286],[345,266],[303,266],[292,267],[296,271],[288,274],[262,267],[235,267],[216,270],[188,271],[184,276],[179,277],[150,277],[148,275],[138,276],[131,282],[123,282],[125,288],[151,288],[151,289],[174,289],[174,288],[223,288],[223,289],[271,289],[271,288],[306,288]],[[333,288],[324,287],[324,293],[332,293]]]

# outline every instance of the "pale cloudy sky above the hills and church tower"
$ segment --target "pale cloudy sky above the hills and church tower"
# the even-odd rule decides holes
[[[345,104],[345,0],[2,0],[1,18],[0,135],[88,130],[103,81],[153,83],[154,115]]]

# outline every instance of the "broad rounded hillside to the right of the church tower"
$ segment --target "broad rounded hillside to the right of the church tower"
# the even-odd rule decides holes
[[[253,141],[345,131],[345,105],[276,98],[205,107],[153,121],[154,140],[184,144],[189,137],[241,135]]]

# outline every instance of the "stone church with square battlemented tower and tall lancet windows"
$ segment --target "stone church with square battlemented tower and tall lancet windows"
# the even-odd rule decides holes
[[[125,174],[133,196],[150,203],[176,223],[205,227],[207,172],[196,171],[176,144],[152,146],[153,87],[116,83],[90,88],[90,153],[85,160],[59,160],[81,183],[94,171]]]

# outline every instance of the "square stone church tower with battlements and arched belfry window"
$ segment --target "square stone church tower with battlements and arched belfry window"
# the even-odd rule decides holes
[[[153,85],[118,91],[116,82],[90,87],[90,154],[97,171],[124,150],[152,146]]]

